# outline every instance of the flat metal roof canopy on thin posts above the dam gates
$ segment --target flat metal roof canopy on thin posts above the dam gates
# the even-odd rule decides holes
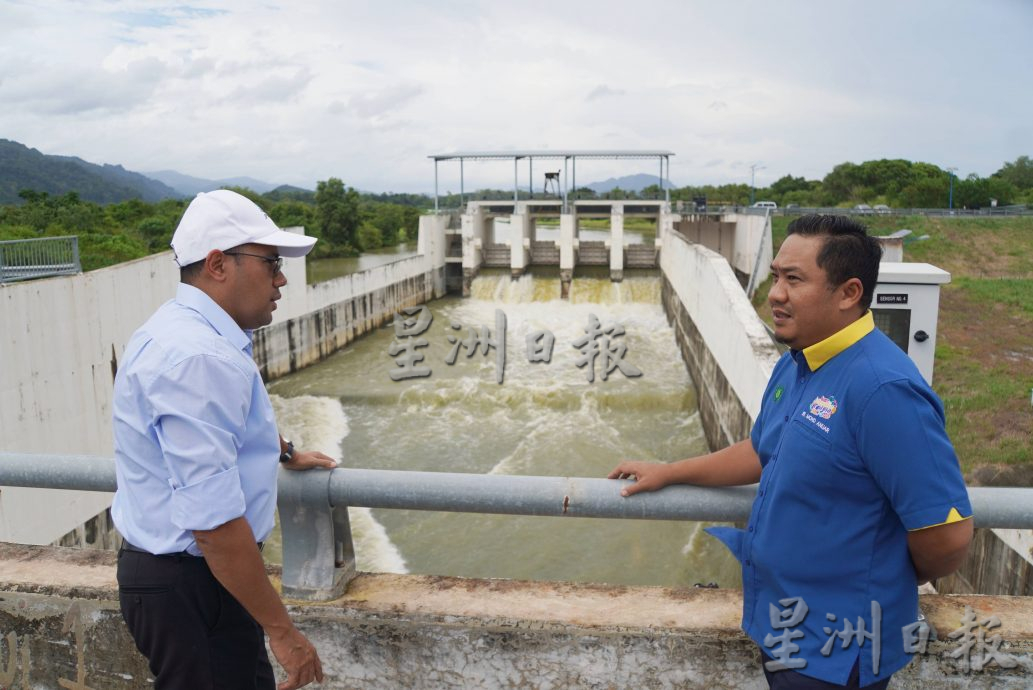
[[[433,156],[428,156],[428,158],[434,159],[434,210],[438,210],[438,163],[442,160],[459,160],[459,196],[460,203],[465,201],[466,190],[464,188],[463,179],[463,161],[466,160],[506,160],[512,159],[513,161],[513,202],[519,200],[519,186],[518,186],[518,173],[516,165],[518,161],[522,158],[527,159],[528,164],[528,188],[531,190],[531,194],[534,194],[534,159],[563,159],[563,210],[567,209],[567,191],[576,190],[577,188],[577,159],[578,158],[594,158],[594,159],[643,159],[643,158],[656,158],[660,162],[660,189],[664,192],[664,198],[670,200],[670,180],[667,180],[667,185],[664,186],[663,181],[666,179],[663,175],[664,163],[667,165],[667,178],[670,177],[670,157],[674,156],[672,151],[629,151],[629,150],[612,150],[612,151],[592,151],[592,150],[567,150],[567,151],[543,151],[543,150],[528,150],[528,151],[456,151],[453,153],[442,153],[435,154]],[[571,184],[567,185],[567,163],[570,163],[571,170]]]

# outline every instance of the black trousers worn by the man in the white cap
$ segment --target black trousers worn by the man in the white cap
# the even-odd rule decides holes
[[[119,552],[119,604],[157,690],[274,690],[265,635],[187,554]]]

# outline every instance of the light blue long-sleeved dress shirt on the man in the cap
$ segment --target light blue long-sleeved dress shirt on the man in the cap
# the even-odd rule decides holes
[[[273,529],[280,437],[242,331],[197,288],[180,283],[133,334],[115,377],[118,491],[112,518],[152,554],[200,556],[193,530],[244,515]]]

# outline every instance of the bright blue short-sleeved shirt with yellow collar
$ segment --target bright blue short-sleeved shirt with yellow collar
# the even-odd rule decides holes
[[[751,440],[763,470],[747,528],[708,530],[742,563],[743,629],[831,683],[858,654],[862,686],[905,666],[918,611],[907,533],[972,515],[936,394],[868,312],[779,359]],[[828,644],[858,619],[867,635]]]

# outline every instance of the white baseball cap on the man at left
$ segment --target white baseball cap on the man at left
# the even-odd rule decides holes
[[[213,249],[225,251],[254,243],[270,245],[280,256],[305,256],[315,238],[281,230],[246,196],[228,189],[201,192],[194,197],[173,234],[173,251],[180,266],[205,259]]]

